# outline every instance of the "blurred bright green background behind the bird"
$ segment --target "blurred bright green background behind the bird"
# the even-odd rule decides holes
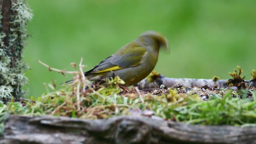
[[[169,40],[170,55],[160,52],[155,70],[172,78],[228,79],[237,65],[250,79],[256,69],[256,1],[242,0],[29,0],[34,18],[28,24],[24,60],[29,96],[46,92],[43,83],[62,76],[53,68],[84,71],[137,38],[155,30]]]

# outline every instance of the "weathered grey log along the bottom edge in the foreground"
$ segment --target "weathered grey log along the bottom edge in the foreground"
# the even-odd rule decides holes
[[[117,116],[83,120],[54,116],[10,116],[1,144],[256,144],[256,127],[198,126]]]

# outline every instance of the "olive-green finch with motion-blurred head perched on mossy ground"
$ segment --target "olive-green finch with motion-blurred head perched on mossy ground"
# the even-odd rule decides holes
[[[154,31],[147,31],[106,58],[91,70],[84,72],[89,80],[100,76],[119,76],[124,80],[123,86],[131,86],[146,78],[156,66],[160,48],[168,50],[168,41]],[[66,84],[73,82],[69,80]]]

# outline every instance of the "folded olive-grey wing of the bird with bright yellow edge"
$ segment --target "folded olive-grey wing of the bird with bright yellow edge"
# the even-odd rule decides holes
[[[146,49],[139,44],[135,42],[129,43],[88,72],[85,72],[85,74],[102,73],[126,67],[138,66],[145,53]]]

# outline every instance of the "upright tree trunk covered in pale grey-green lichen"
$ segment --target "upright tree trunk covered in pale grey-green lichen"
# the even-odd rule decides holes
[[[0,99],[19,99],[25,95],[21,87],[28,82],[22,51],[28,37],[25,26],[32,14],[25,0],[0,0],[0,8]]]

